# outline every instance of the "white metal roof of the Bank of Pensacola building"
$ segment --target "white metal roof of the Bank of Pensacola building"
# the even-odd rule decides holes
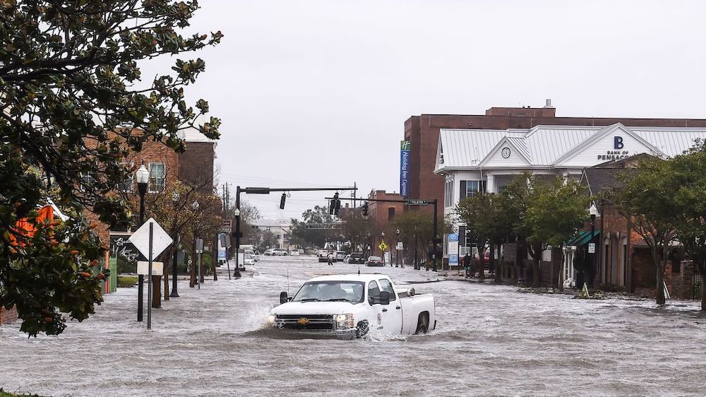
[[[491,156],[498,145],[507,141],[531,167],[561,167],[577,150],[590,146],[600,136],[622,129],[657,155],[678,155],[706,138],[706,128],[610,126],[534,126],[532,129],[441,129],[436,172],[475,169]],[[487,161],[487,160],[486,160]],[[483,165],[486,168],[486,165]]]

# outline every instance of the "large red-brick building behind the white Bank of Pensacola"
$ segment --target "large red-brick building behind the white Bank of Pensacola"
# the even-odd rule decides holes
[[[622,117],[556,117],[551,101],[544,107],[491,107],[485,114],[421,114],[405,121],[405,141],[410,141],[409,198],[443,202],[444,176],[434,174],[441,129],[530,129],[539,125],[705,127],[706,119],[630,119]],[[443,217],[443,206],[438,208]]]

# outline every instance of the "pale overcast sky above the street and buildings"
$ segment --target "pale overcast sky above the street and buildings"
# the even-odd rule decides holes
[[[199,2],[191,29],[225,37],[187,97],[222,118],[232,191],[399,191],[404,122],[422,113],[551,98],[558,117],[706,118],[706,1]],[[325,195],[243,198],[297,218]]]

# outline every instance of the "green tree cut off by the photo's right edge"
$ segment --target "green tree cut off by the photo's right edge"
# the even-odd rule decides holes
[[[706,142],[697,141],[683,155],[669,160],[674,199],[681,213],[674,225],[676,237],[706,280]],[[701,311],[706,312],[706,288],[701,286]]]

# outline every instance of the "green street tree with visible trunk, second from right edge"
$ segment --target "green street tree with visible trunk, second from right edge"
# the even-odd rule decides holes
[[[676,199],[675,186],[680,185],[674,177],[670,162],[659,158],[641,160],[635,170],[617,175],[623,186],[614,202],[650,248],[657,271],[657,304],[665,302],[667,250],[676,237],[678,220],[683,219],[681,203]]]

